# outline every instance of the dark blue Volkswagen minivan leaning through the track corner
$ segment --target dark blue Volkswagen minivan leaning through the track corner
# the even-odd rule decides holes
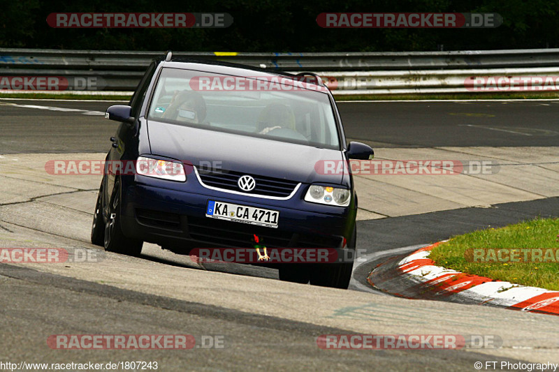
[[[106,157],[92,243],[139,255],[149,241],[185,254],[252,247],[256,237],[268,248],[353,257],[357,195],[344,165],[373,151],[346,144],[320,77],[169,52],[152,62],[129,105],[109,107],[106,118],[121,124]],[[124,171],[129,164],[132,172]],[[285,281],[347,288],[352,265],[277,268]]]

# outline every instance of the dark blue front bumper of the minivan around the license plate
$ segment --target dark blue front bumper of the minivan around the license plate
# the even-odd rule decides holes
[[[211,190],[193,193],[131,182],[122,189],[121,227],[128,237],[173,249],[247,248],[252,247],[253,235],[258,235],[261,244],[270,248],[344,248],[354,229],[355,209],[315,206],[302,200],[303,192],[293,195],[291,200],[279,201]],[[275,209],[279,211],[278,228],[205,217],[208,200]],[[298,204],[306,209],[294,208]],[[313,208],[319,211],[312,211]]]

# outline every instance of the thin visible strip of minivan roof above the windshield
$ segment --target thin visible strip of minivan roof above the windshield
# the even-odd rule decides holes
[[[300,75],[293,75],[279,70],[268,70],[266,68],[258,68],[254,66],[247,66],[242,64],[233,64],[231,62],[215,61],[211,59],[182,59],[173,58],[171,61],[162,61],[163,67],[168,68],[181,68],[184,70],[197,70],[205,73],[217,73],[221,75],[232,75],[240,77],[287,77],[293,82],[300,79]],[[306,89],[313,91],[325,92],[326,86],[319,86],[317,84],[305,84]],[[325,89],[326,88],[326,89]]]

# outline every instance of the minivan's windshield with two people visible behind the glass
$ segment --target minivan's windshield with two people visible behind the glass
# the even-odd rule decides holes
[[[164,68],[147,117],[210,131],[340,149],[328,94],[305,89],[303,84],[293,87],[289,80]]]

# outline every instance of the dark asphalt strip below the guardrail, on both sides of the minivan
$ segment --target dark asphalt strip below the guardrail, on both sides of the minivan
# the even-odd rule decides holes
[[[0,100],[2,154],[104,152],[115,123],[98,119],[112,104],[123,103]],[[338,107],[347,137],[375,147],[556,146],[559,142],[559,101],[342,102]]]

